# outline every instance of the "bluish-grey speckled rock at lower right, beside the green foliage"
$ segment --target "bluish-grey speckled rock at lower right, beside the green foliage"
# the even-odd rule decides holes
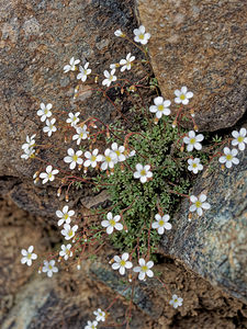
[[[247,303],[247,149],[240,163],[205,171],[191,195],[205,193],[211,209],[188,220],[189,202],[183,201],[173,227],[164,236],[162,252]]]

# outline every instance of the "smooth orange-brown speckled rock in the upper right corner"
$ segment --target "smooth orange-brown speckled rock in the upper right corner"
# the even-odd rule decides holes
[[[136,2],[162,94],[186,84],[201,131],[233,126],[247,109],[246,1]]]

